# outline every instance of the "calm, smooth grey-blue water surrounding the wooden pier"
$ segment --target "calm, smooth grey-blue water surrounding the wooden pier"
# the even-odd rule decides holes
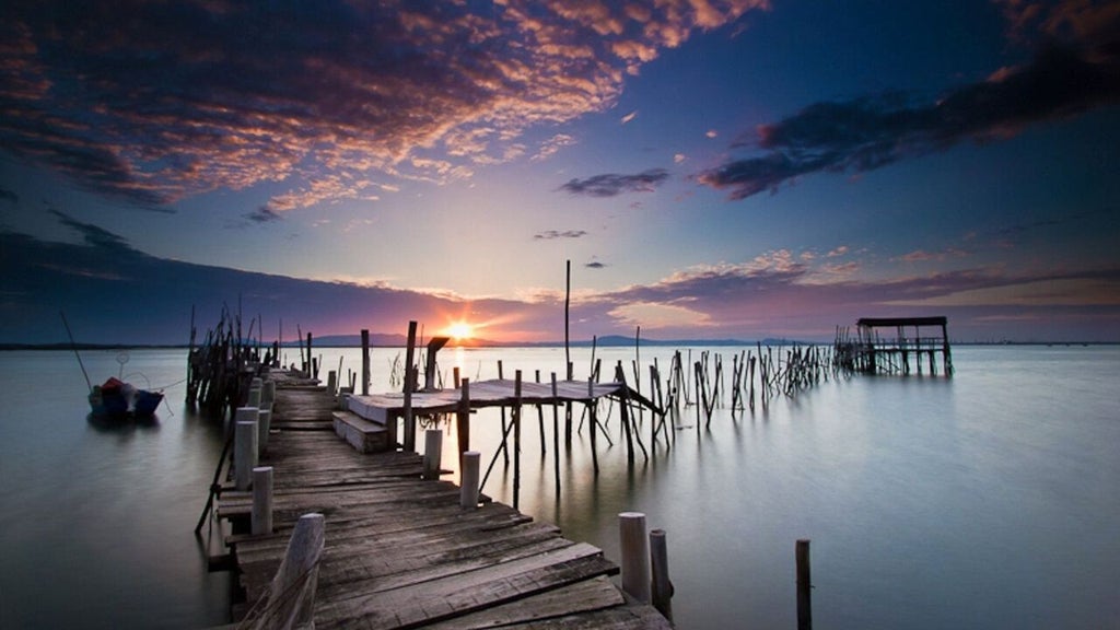
[[[732,350],[713,351],[729,371]],[[374,351],[375,390],[399,354]],[[670,354],[642,361],[665,369]],[[633,350],[598,355],[628,367]],[[344,373],[360,368],[356,350],[321,356],[324,378],[339,358]],[[578,377],[589,356],[572,351]],[[149,425],[92,424],[72,353],[0,353],[0,627],[225,621],[230,577],[206,573],[192,532],[223,429],[183,409],[185,351],[133,351],[123,370],[116,352],[83,359],[94,380],[170,386],[169,405]],[[496,377],[498,359],[506,377],[548,380],[563,351],[440,353],[472,379]],[[551,410],[542,460],[525,408],[521,509],[614,559],[617,513],[645,512],[668,531],[681,628],[795,627],[797,538],[812,540],[819,628],[1120,627],[1120,348],[960,348],[954,361],[952,380],[829,382],[753,415],[717,411],[699,433],[689,409],[632,470],[614,417],[598,478],[586,428],[561,447],[559,499]],[[496,410],[474,421],[484,463],[498,423]],[[445,465],[452,448],[445,439]],[[512,466],[498,460],[484,491],[511,503]]]

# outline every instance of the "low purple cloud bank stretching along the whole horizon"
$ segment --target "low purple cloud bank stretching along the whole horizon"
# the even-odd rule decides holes
[[[298,322],[317,335],[361,328],[393,333],[410,319],[441,325],[450,314],[458,317],[469,309],[473,321],[488,324],[493,339],[558,339],[561,290],[523,299],[472,299],[385,281],[319,281],[190,265],[142,254],[104,229],[56,216],[78,229],[86,242],[47,242],[0,230],[0,342],[59,341],[60,308],[105,343],[184,343],[193,306],[200,314],[217,314],[223,302],[239,296],[246,312],[267,322]],[[974,268],[852,280],[844,271],[855,262],[818,267],[823,260],[806,262],[796,252],[776,250],[743,262],[685,269],[654,282],[577,290],[572,339],[628,334],[641,325],[656,327],[661,339],[699,334],[828,341],[837,325],[859,317],[936,309],[950,317],[954,339],[1120,341],[1120,268],[1014,276]],[[1037,323],[1025,323],[1016,328],[1011,317],[1046,322],[1046,327],[1039,332]]]

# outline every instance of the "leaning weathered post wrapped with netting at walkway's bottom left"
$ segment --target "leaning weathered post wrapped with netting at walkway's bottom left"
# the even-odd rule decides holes
[[[326,540],[326,520],[320,513],[299,517],[288,541],[288,552],[269,592],[270,614],[254,620],[252,628],[314,628],[315,590],[319,582],[319,557]]]

